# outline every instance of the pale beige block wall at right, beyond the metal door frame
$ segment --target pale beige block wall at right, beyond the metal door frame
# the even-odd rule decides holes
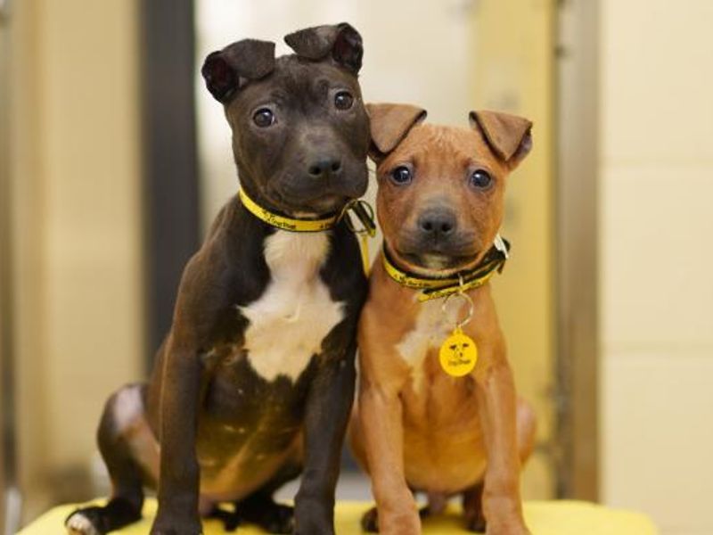
[[[602,498],[713,533],[713,2],[602,1]]]

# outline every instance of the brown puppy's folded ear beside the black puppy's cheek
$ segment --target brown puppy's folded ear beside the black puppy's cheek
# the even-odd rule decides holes
[[[372,131],[369,156],[377,163],[406,137],[411,128],[426,119],[426,111],[411,104],[366,104]]]

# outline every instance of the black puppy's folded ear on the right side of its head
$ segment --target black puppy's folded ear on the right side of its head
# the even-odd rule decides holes
[[[319,62],[331,55],[335,62],[355,74],[362,68],[362,37],[347,22],[299,29],[285,36],[284,42],[307,60]]]

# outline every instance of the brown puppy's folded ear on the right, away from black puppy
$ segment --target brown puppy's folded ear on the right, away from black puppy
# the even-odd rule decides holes
[[[500,111],[471,111],[471,127],[480,131],[498,158],[514,169],[532,149],[532,121]]]

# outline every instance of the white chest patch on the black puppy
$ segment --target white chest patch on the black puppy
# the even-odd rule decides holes
[[[319,276],[328,253],[324,233],[278,230],[265,241],[270,283],[260,299],[241,311],[250,320],[245,350],[266,381],[278,375],[295,381],[344,318],[344,304],[332,300]]]

